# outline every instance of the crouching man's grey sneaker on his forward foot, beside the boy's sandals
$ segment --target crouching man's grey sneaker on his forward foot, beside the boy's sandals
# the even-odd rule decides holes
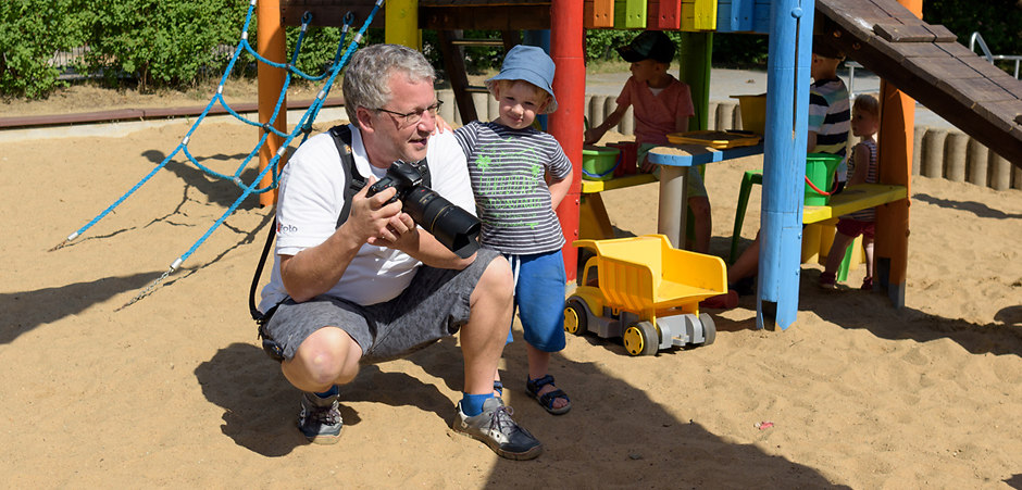
[[[519,427],[511,419],[511,407],[504,406],[503,400],[496,397],[487,399],[483,403],[483,413],[473,417],[465,415],[461,402],[458,402],[458,414],[451,428],[485,442],[501,457],[532,460],[543,452],[543,443],[528,430]]]

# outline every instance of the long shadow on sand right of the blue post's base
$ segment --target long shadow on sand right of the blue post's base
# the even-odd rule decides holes
[[[818,274],[806,277],[802,271],[799,310],[812,311],[823,321],[842,328],[869,330],[877,338],[887,340],[911,339],[927,342],[948,339],[973,354],[1013,354],[1022,356],[1022,306],[1001,310],[995,316],[1001,323],[986,325],[934,316],[928,313],[902,307],[894,310],[886,293],[865,292],[839,286],[838,291],[818,291]],[[812,293],[807,293],[813,291]],[[896,315],[898,321],[877,321],[871,312],[883,312],[885,317]]]

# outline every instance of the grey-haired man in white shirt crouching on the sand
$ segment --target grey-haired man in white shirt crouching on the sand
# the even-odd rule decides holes
[[[465,156],[453,135],[431,136],[439,102],[435,73],[409,48],[359,50],[345,73],[350,152],[367,184],[395,161],[426,159],[429,187],[474,214]],[[410,353],[460,330],[464,392],[454,430],[497,454],[531,460],[543,444],[511,419],[494,397],[494,373],[511,324],[512,276],[499,253],[460,259],[388,203],[396,190],[366,188],[346,203],[341,150],[328,134],[306,141],[284,168],[277,204],[276,260],[260,310],[272,313],[263,334],[284,357],[282,370],[302,390],[298,426],[317,443],[334,443],[342,426],[339,386],[360,363]],[[348,217],[338,224],[341,210]]]

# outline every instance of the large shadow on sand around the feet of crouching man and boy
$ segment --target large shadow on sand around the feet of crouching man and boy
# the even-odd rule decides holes
[[[252,331],[254,336],[254,327]],[[524,373],[527,363],[524,349],[506,354],[509,369]],[[441,340],[407,360],[444,379],[448,390],[461,391],[462,357],[453,339]],[[762,482],[764,475],[784,475],[781,481],[776,476],[771,479],[783,486],[838,488],[813,468],[766,454],[752,444],[725,441],[697,422],[675,418],[646,392],[608,375],[595,363],[554,355],[552,364],[564,386],[600,387],[575,391],[577,406],[563,417],[551,417],[524,394],[515,394],[515,418],[545,443],[546,451],[538,461],[545,468],[564,476],[563,481],[645,487],[691,482],[707,488],[734,488]],[[281,457],[308,444],[295,429],[298,391],[261,349],[233,343],[200,364],[195,376],[207,400],[224,409],[221,430],[238,445],[263,456]],[[518,390],[518,385],[511,380],[506,389]],[[453,406],[449,394],[440,390],[440,386],[406,373],[363,366],[358,378],[344,388],[344,401],[348,402],[341,403],[345,426],[362,422],[350,402],[365,401],[415,406],[434,414],[436,424],[447,427],[453,417]],[[594,424],[600,428],[595,429]],[[494,457],[485,487],[507,487],[536,477],[535,464]],[[609,464],[593,464],[599,461]],[[676,464],[678,461],[685,464]],[[634,470],[622,472],[628,465]],[[579,473],[579,468],[585,470]],[[650,473],[652,468],[655,474]]]

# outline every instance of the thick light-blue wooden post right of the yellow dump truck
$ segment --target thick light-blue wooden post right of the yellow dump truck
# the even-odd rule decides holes
[[[774,0],[770,9],[759,328],[786,329],[798,313],[813,11],[813,0]]]

